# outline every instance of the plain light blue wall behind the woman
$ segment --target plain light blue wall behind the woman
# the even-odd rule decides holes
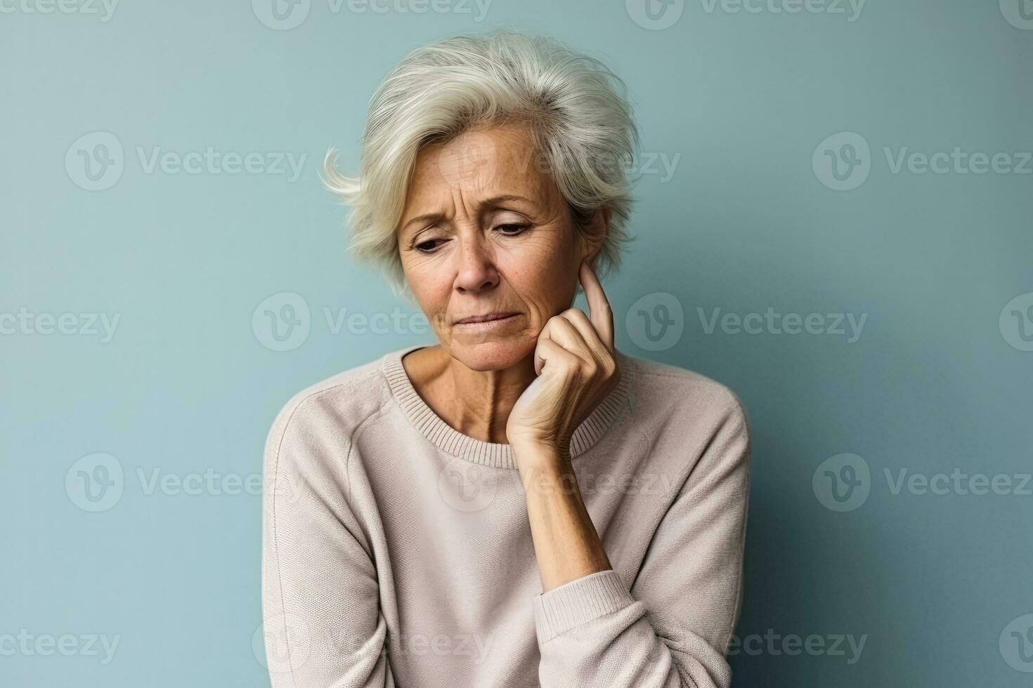
[[[638,183],[639,238],[606,289],[621,350],[715,378],[750,413],[738,635],[867,635],[853,664],[849,651],[740,653],[734,685],[1033,681],[999,647],[1033,614],[1033,496],[894,494],[883,474],[1033,465],[1033,352],[1008,343],[1018,321],[999,324],[1006,303],[1033,292],[1033,175],[894,173],[883,152],[1033,151],[1033,30],[996,1],[870,0],[848,21],[848,5],[750,13],[694,0],[659,30],[622,0],[495,0],[480,22],[470,3],[469,13],[333,13],[313,0],[291,30],[263,25],[247,0],[124,0],[107,22],[6,1],[0,314],[120,320],[107,342],[0,335],[0,635],[121,640],[107,664],[0,655],[0,685],[268,685],[252,651],[260,497],[147,494],[137,470],[256,473],[293,392],[431,340],[328,329],[323,308],[411,307],[347,259],[343,208],[317,169],[330,146],[355,169],[369,98],[406,53],[500,25],[603,59],[630,88],[644,151],[681,155],[671,178]],[[86,191],[65,157],[98,131],[117,137],[125,168]],[[839,132],[871,146],[869,176],[849,191],[826,188],[812,165]],[[291,183],[146,173],[136,157],[209,145],[307,158]],[[311,332],[275,352],[252,315],[282,292],[311,307]],[[684,333],[646,351],[625,316],[658,293],[683,306]],[[867,321],[853,343],[707,334],[697,308],[716,307]],[[98,452],[124,468],[124,494],[88,513],[65,476]],[[812,476],[842,453],[870,466],[871,494],[838,513]]]

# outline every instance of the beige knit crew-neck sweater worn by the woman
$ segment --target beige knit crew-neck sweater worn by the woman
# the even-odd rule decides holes
[[[618,352],[571,456],[614,569],[542,594],[508,445],[448,426],[390,352],[301,392],[265,450],[274,688],[726,687],[749,492],[722,385]]]

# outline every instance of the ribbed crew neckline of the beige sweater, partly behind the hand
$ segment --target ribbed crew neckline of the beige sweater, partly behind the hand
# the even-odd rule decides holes
[[[405,412],[409,422],[420,434],[446,454],[486,466],[515,470],[516,462],[509,445],[481,441],[463,434],[435,414],[416,392],[412,381],[409,380],[409,375],[405,371],[405,366],[402,365],[402,358],[417,349],[427,349],[430,346],[413,345],[384,354],[380,366],[387,379],[392,394],[398,400],[402,411]],[[624,358],[620,352],[617,352],[617,356],[618,361]],[[613,425],[628,396],[629,373],[628,366],[622,365],[621,380],[617,387],[574,430],[570,439],[571,459],[588,451]]]

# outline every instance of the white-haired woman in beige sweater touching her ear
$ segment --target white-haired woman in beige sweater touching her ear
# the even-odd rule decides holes
[[[270,432],[276,688],[729,685],[748,424],[722,385],[614,347],[596,272],[636,143],[602,64],[494,32],[390,72],[358,178],[327,158],[355,255],[437,343],[306,389]]]

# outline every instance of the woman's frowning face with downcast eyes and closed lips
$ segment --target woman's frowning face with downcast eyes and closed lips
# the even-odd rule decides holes
[[[534,351],[545,322],[570,307],[581,262],[604,235],[574,229],[536,160],[520,126],[469,131],[416,159],[398,230],[402,267],[442,349],[474,370]]]

